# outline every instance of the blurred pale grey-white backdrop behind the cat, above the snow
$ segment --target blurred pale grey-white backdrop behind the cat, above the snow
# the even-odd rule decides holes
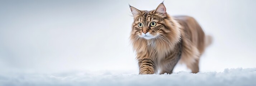
[[[125,70],[138,67],[128,3],[153,10],[159,0],[0,1],[0,72]],[[213,44],[200,71],[256,67],[255,0],[165,0],[170,15],[198,20]],[[189,71],[184,65],[177,71]]]

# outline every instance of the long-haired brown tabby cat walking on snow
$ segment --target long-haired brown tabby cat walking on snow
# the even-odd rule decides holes
[[[190,16],[170,16],[163,3],[155,10],[130,6],[134,17],[131,31],[139,74],[172,73],[178,61],[192,73],[199,72],[199,57],[211,42]]]

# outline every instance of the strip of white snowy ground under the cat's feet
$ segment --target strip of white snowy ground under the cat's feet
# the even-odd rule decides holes
[[[224,72],[178,72],[171,75],[137,75],[127,72],[67,72],[53,74],[8,73],[0,86],[256,86],[256,68]]]

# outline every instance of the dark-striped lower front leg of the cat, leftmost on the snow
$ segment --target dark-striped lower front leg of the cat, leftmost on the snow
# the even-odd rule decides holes
[[[154,74],[156,65],[151,59],[139,59],[139,74]]]

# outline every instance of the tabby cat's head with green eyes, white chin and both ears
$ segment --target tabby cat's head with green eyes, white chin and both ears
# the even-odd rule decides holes
[[[163,3],[151,11],[138,10],[133,6],[130,6],[130,9],[134,18],[131,37],[151,40],[157,38],[169,39],[170,36],[177,39],[180,36],[180,32],[174,26],[177,22],[166,13]]]

